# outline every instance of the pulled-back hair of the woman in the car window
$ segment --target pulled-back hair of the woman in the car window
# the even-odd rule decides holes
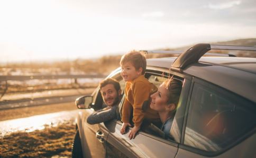
[[[180,96],[180,92],[182,89],[182,82],[174,79],[174,78],[170,78],[169,80],[164,82],[164,87],[167,89],[168,94],[168,104],[175,104],[176,107],[178,106],[178,102],[179,102],[179,96]]]

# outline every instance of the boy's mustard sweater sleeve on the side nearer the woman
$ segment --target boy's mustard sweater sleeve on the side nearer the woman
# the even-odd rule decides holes
[[[144,113],[142,112],[142,105],[144,101],[149,99],[151,86],[144,82],[135,82],[133,85],[133,122],[135,126],[142,124]]]

